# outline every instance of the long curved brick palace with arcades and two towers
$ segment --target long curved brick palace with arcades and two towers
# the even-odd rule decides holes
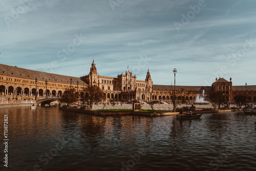
[[[37,91],[36,82],[37,78]],[[47,85],[46,85],[47,81]],[[93,60],[89,75],[83,77],[72,77],[58,74],[51,74],[33,71],[18,67],[0,64],[0,98],[5,99],[35,99],[41,96],[62,96],[66,88],[78,89],[81,96],[86,95],[83,88],[89,85],[96,85],[104,92],[106,101],[110,99],[126,101],[161,101],[169,103],[174,86],[153,84],[150,71],[146,73],[145,80],[137,80],[136,75],[126,71],[125,74],[118,74],[117,77],[100,76],[97,73]],[[47,86],[47,91],[46,91]],[[256,102],[256,86],[232,86],[224,78],[216,78],[212,86],[176,86],[176,91],[183,91],[185,95],[183,102],[195,102],[199,96],[207,96],[210,90],[222,91],[227,102],[232,102],[234,96],[247,94],[249,102]]]

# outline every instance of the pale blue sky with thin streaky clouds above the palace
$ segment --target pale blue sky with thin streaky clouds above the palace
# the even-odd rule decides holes
[[[256,85],[254,0],[0,1],[1,63],[80,77],[131,71],[154,84]]]

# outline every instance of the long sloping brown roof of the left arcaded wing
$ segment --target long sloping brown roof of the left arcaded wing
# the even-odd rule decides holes
[[[0,64],[0,73],[4,73],[4,72],[5,74],[9,74],[9,75],[28,77],[28,79],[37,77],[37,79],[45,79],[45,80],[59,81],[59,82],[62,82],[62,81],[70,82],[70,79],[72,79],[72,81],[75,83],[77,81],[79,83],[83,83],[83,81],[79,77],[58,75],[58,74],[34,71],[34,70]]]

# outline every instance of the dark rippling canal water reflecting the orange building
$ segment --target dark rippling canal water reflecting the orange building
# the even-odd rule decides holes
[[[55,107],[0,109],[1,118],[4,114],[9,119],[9,164],[8,169],[2,165],[1,145],[1,170],[256,168],[256,117],[243,113],[204,114],[191,121],[96,117]]]

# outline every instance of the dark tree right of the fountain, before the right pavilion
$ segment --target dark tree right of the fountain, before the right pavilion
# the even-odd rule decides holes
[[[207,96],[204,97],[204,100],[210,102],[212,104],[212,106],[214,107],[214,110],[217,108],[217,104],[220,108],[221,103],[225,102],[225,98],[224,98],[224,95],[222,94],[222,92],[214,91],[214,90],[208,92]]]

